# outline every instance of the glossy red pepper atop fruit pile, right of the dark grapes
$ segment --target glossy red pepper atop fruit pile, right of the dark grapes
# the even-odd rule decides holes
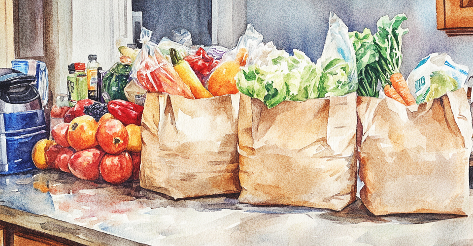
[[[110,114],[124,125],[141,125],[141,116],[143,115],[143,106],[125,100],[111,100],[107,104]]]

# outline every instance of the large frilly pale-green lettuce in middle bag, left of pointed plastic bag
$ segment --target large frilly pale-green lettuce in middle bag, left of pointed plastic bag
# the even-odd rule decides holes
[[[273,48],[267,59],[268,64],[243,67],[236,74],[240,92],[260,99],[268,108],[285,100],[305,101],[319,96],[322,69],[302,51],[294,50],[294,56],[289,56]]]

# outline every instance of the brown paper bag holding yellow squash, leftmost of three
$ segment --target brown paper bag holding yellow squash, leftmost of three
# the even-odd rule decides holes
[[[141,123],[143,188],[175,199],[239,192],[239,95],[148,93]]]

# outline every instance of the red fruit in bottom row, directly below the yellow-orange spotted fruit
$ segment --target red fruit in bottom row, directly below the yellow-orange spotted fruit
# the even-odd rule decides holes
[[[100,177],[99,165],[103,152],[96,148],[78,151],[70,156],[68,165],[70,172],[83,180],[96,180]]]

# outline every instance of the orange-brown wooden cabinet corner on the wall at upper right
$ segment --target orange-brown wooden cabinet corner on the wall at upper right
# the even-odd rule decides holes
[[[437,29],[448,36],[473,35],[473,0],[436,0]]]

